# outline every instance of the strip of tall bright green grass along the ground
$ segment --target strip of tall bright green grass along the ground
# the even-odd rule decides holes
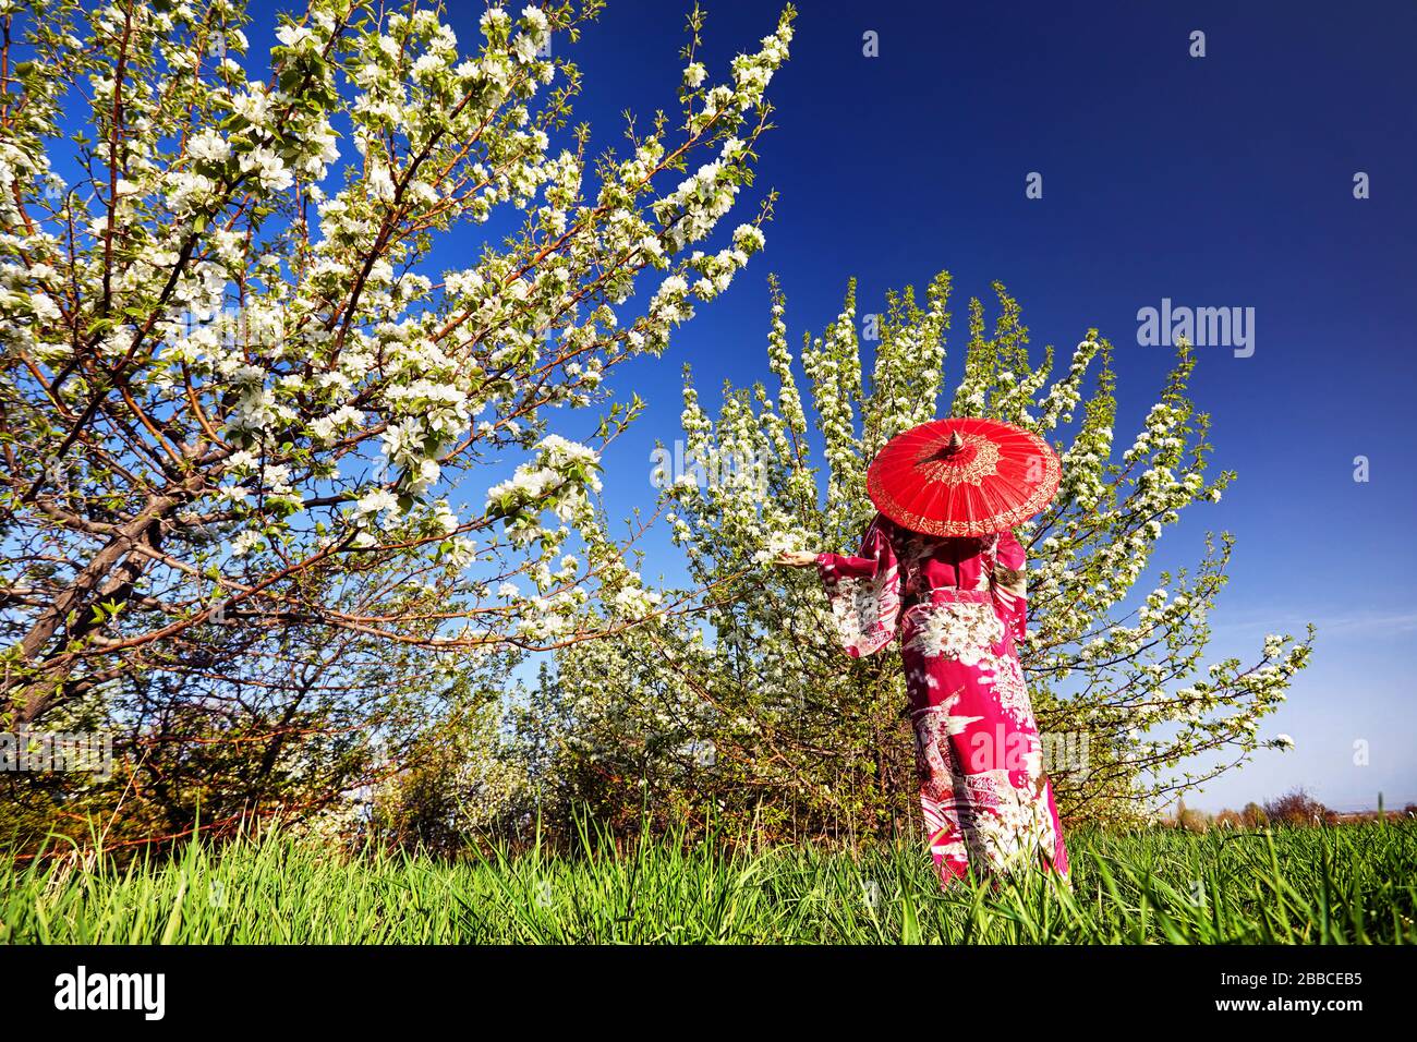
[[[1039,876],[941,895],[914,846],[730,853],[504,852],[341,859],[283,835],[166,862],[0,866],[0,943],[1417,941],[1417,822],[1070,835],[1071,892]]]

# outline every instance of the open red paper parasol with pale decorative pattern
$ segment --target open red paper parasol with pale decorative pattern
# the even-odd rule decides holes
[[[931,536],[985,536],[1046,508],[1058,488],[1057,454],[998,420],[931,420],[897,434],[866,472],[876,509]]]

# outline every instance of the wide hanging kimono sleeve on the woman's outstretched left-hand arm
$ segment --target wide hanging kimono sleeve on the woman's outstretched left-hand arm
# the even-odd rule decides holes
[[[842,649],[860,658],[890,644],[900,621],[900,567],[888,522],[870,523],[859,554],[822,553],[816,567]]]

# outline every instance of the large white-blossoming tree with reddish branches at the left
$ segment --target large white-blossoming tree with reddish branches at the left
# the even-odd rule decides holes
[[[237,0],[0,0],[10,724],[208,625],[458,654],[652,610],[605,381],[762,248],[794,11],[716,78],[696,10],[680,116],[592,157],[598,9],[310,0],[258,57]]]

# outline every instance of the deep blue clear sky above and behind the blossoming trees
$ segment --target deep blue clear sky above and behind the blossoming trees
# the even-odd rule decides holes
[[[687,0],[611,0],[572,57],[577,118],[598,147],[621,112],[676,111]],[[475,38],[482,4],[449,20]],[[707,0],[710,77],[775,24],[778,6]],[[949,269],[958,379],[972,295],[1003,281],[1034,346],[1071,350],[1098,326],[1118,352],[1118,437],[1129,441],[1170,364],[1136,343],[1138,309],[1253,308],[1254,353],[1202,349],[1192,384],[1217,468],[1238,481],[1195,508],[1158,567],[1195,563],[1207,529],[1238,544],[1213,617],[1214,658],[1251,661],[1265,632],[1319,625],[1314,665],[1264,723],[1263,751],[1189,802],[1209,809],[1305,785],[1336,808],[1417,802],[1414,508],[1410,404],[1417,244],[1417,7],[1410,3],[863,6],[805,0],[771,88],[778,128],[757,194],[778,189],[768,248],[676,336],[619,370],[649,403],[606,459],[612,515],[650,509],[649,454],[680,435],[680,364],[704,404],[724,379],[765,376],[767,274],[788,295],[791,343],[887,288]],[[258,4],[254,52],[268,43]],[[1192,58],[1190,34],[1206,34]],[[863,54],[876,33],[879,57]],[[1043,197],[1024,179],[1043,176]],[[1370,198],[1353,197],[1353,176]],[[439,259],[470,259],[476,242]],[[465,251],[465,257],[459,257]],[[1353,481],[1355,456],[1370,481]],[[682,574],[665,539],[646,571]],[[1148,577],[1149,578],[1149,577]],[[1144,588],[1149,588],[1144,578]],[[1366,766],[1355,743],[1367,743]]]

